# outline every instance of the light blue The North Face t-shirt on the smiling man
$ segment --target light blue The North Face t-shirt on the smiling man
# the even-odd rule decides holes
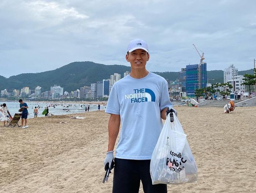
[[[116,147],[120,159],[151,159],[163,128],[160,112],[172,107],[167,81],[154,73],[136,79],[130,75],[117,81],[105,112],[120,115],[122,129]]]

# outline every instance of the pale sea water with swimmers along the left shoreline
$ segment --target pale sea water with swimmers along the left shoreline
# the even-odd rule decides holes
[[[27,106],[29,107],[27,110],[29,112],[29,115],[27,118],[33,118],[34,117],[34,108],[37,107],[38,105],[40,108],[38,108],[38,117],[45,116],[42,115],[42,112],[44,111],[45,107],[49,108],[49,113],[53,115],[70,115],[70,114],[76,114],[76,113],[83,113],[85,112],[85,107],[88,107],[90,105],[90,111],[97,111],[98,110],[98,104],[89,104],[89,102],[81,102],[81,103],[72,103],[72,102],[30,102],[30,101],[23,101],[27,103]],[[0,104],[6,103],[7,108],[10,112],[10,114],[13,116],[15,113],[20,113],[18,112],[19,110],[19,102],[18,101],[0,101]],[[55,108],[51,106],[51,104],[59,104],[55,105]],[[60,105],[60,104],[63,104]],[[70,107],[67,107],[68,105],[71,105]],[[82,107],[81,107],[82,105]],[[85,105],[85,106],[84,106]],[[50,107],[49,107],[50,106]],[[63,109],[68,109],[63,110]],[[100,110],[105,110],[105,106],[100,104]]]

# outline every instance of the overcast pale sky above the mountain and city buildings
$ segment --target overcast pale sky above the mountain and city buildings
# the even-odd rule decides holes
[[[0,0],[0,75],[54,70],[75,61],[129,66],[134,38],[149,45],[149,71],[253,68],[255,0]],[[79,69],[74,69],[79,70]]]

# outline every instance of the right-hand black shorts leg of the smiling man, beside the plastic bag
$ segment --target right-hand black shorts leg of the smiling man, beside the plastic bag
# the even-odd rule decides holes
[[[152,179],[150,175],[150,160],[140,161],[140,178],[143,185],[144,193],[167,193],[166,184],[152,185]]]

